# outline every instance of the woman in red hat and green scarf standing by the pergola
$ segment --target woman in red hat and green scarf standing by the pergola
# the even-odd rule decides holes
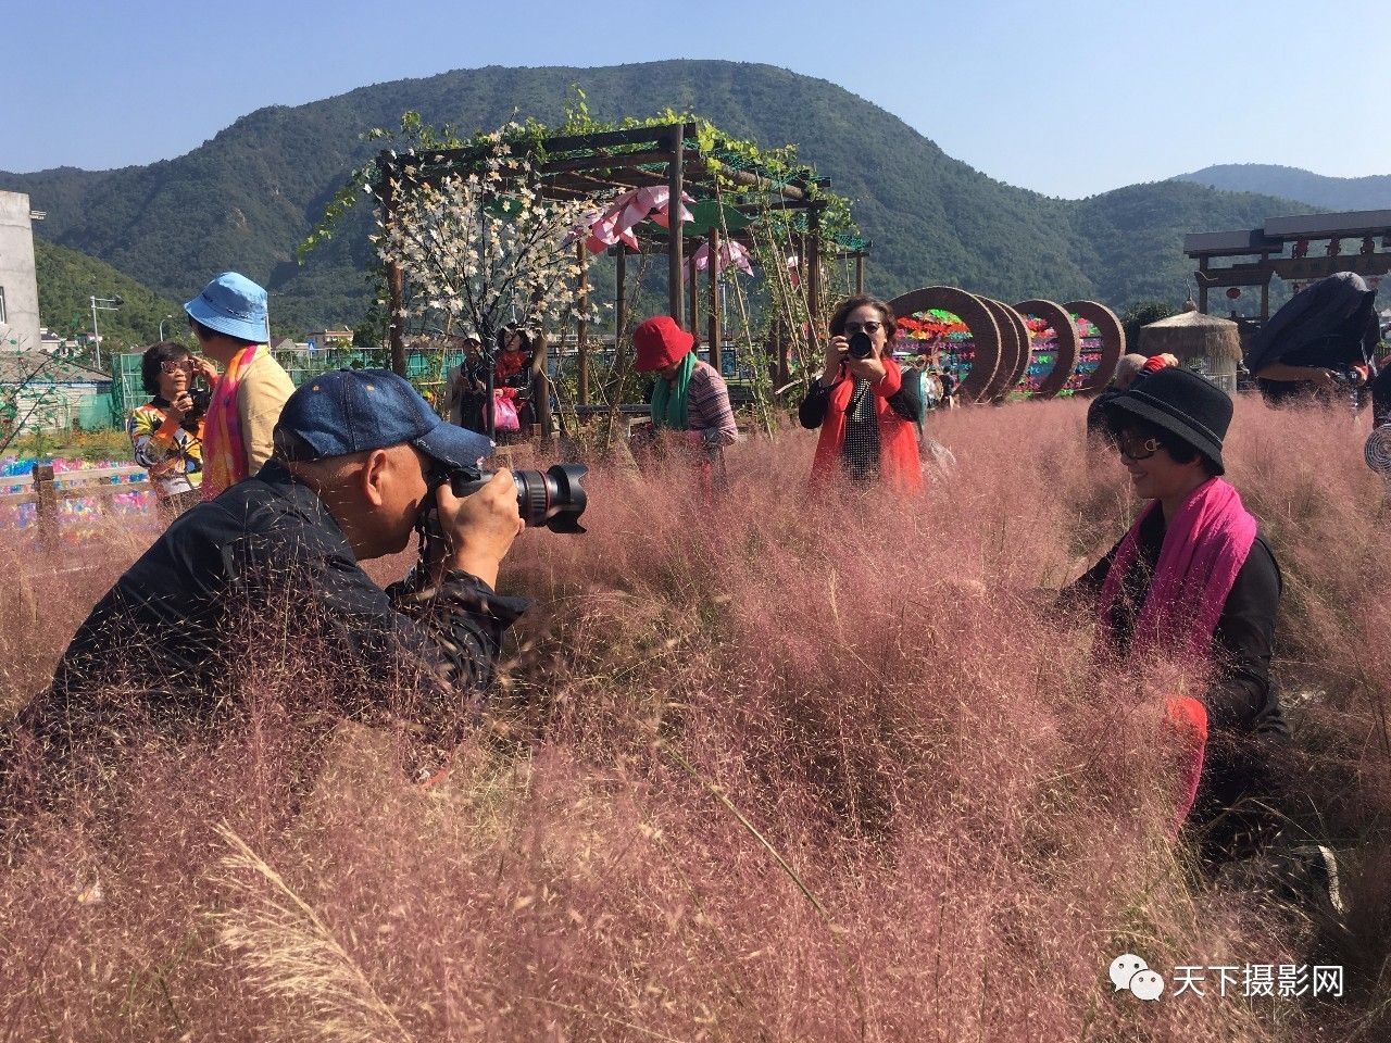
[[[682,431],[702,463],[723,469],[723,446],[739,435],[725,378],[691,350],[696,338],[670,316],[648,318],[633,331],[637,371],[657,374],[652,427]]]

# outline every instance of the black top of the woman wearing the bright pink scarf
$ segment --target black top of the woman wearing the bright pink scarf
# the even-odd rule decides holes
[[[1111,630],[1124,654],[1164,542],[1164,513],[1152,510],[1139,531],[1139,553],[1111,606]],[[1095,604],[1120,549],[1117,542],[1067,591],[1072,602]],[[1207,688],[1207,719],[1213,730],[1288,734],[1280,695],[1270,681],[1270,649],[1280,608],[1280,566],[1264,537],[1256,541],[1237,573],[1213,630],[1213,674]]]

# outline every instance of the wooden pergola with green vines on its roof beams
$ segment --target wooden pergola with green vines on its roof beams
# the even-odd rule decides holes
[[[822,189],[830,188],[828,178],[817,178],[811,168],[800,168],[791,175],[776,172],[748,160],[743,153],[716,142],[714,147],[702,147],[698,140],[698,127],[693,122],[664,124],[658,127],[634,127],[622,131],[602,131],[580,135],[555,135],[544,138],[536,146],[541,161],[537,164],[540,179],[531,185],[542,199],[576,200],[594,199],[608,192],[626,192],[636,188],[665,186],[670,200],[680,200],[686,193],[696,206],[712,207],[718,220],[702,227],[700,235],[666,229],[644,221],[634,228],[638,253],[665,253],[668,264],[668,313],[683,327],[696,328],[700,321],[700,292],[693,278],[687,296],[684,261],[691,246],[701,241],[709,243],[714,259],[722,242],[734,241],[746,248],[754,246],[754,232],[758,220],[769,210],[791,211],[801,242],[798,253],[805,261],[807,295],[811,314],[821,309],[822,274],[822,231],[821,218],[826,200],[819,197]],[[451,174],[469,172],[484,159],[484,149],[430,149],[405,153],[383,152],[377,159],[377,195],[383,200],[383,223],[389,228],[395,214],[394,184],[403,167],[413,167],[415,177],[421,181],[437,181]],[[733,188],[730,188],[730,185]],[[736,199],[726,203],[733,195]],[[669,203],[670,206],[670,203]],[[675,209],[672,213],[679,213]],[[737,225],[737,227],[736,227]],[[726,238],[727,236],[727,238]],[[855,282],[864,291],[864,264],[869,243],[855,239],[839,256],[855,263]],[[618,299],[615,302],[615,330],[622,335],[627,323],[626,266],[630,249],[622,245],[609,250],[616,259]],[[587,261],[584,243],[577,245],[581,273]],[[584,275],[581,274],[581,280]],[[584,284],[581,282],[581,286]],[[391,307],[389,346],[392,367],[405,370],[405,331],[396,316],[403,303],[403,285],[399,264],[387,263],[387,288]],[[718,352],[723,341],[721,330],[719,278],[716,264],[709,266],[708,343]],[[689,307],[687,307],[689,303]],[[687,313],[690,324],[687,325]],[[588,352],[586,330],[580,323],[579,334],[579,398],[588,399]],[[718,359],[714,360],[718,367]]]

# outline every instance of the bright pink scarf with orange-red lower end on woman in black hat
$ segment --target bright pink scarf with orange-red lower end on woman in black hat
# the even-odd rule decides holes
[[[1159,501],[1131,526],[1102,584],[1100,624],[1107,637],[1111,606],[1139,553],[1141,524],[1152,510],[1160,510]],[[1206,674],[1212,662],[1213,631],[1255,541],[1256,519],[1241,505],[1237,490],[1221,478],[1210,478],[1193,490],[1164,531],[1159,563],[1135,619],[1131,654],[1152,649],[1175,652],[1200,663]],[[1191,695],[1170,695],[1164,716],[1178,733],[1185,754],[1173,823],[1177,834],[1198,797],[1207,744],[1207,711]]]

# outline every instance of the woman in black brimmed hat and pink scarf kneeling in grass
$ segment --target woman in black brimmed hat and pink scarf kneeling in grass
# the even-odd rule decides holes
[[[1273,830],[1270,755],[1288,737],[1270,683],[1280,569],[1256,519],[1221,476],[1231,399],[1164,369],[1106,406],[1135,492],[1150,501],[1071,588],[1097,612],[1110,655],[1187,663],[1196,684],[1167,695],[1185,754],[1175,825],[1200,829],[1207,861]],[[1220,822],[1217,819],[1220,818]]]

